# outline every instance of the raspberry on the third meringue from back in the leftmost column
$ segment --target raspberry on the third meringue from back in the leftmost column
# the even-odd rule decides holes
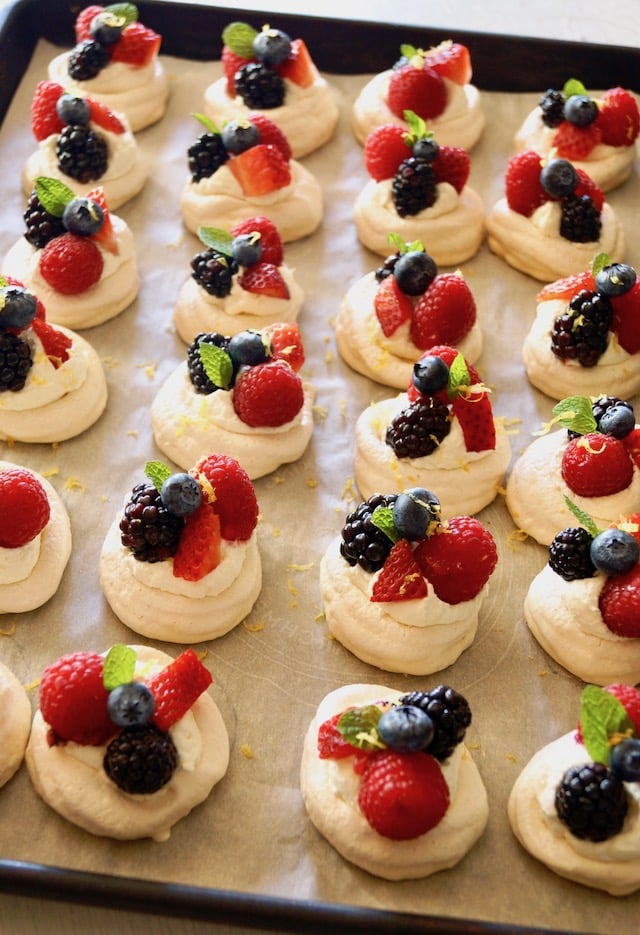
[[[56,292],[78,295],[94,286],[102,276],[104,260],[88,237],[61,234],[43,248],[40,273]]]

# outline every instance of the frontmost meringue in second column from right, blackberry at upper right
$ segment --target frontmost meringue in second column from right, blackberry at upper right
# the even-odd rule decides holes
[[[407,693],[345,685],[321,701],[304,740],[302,797],[346,860],[387,880],[457,864],[481,836],[487,793],[463,743],[467,700],[453,688]]]

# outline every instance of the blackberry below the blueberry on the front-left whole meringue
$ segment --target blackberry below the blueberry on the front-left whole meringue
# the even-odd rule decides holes
[[[169,734],[152,724],[125,727],[107,747],[102,765],[119,789],[148,795],[169,782],[178,765],[178,751]]]

